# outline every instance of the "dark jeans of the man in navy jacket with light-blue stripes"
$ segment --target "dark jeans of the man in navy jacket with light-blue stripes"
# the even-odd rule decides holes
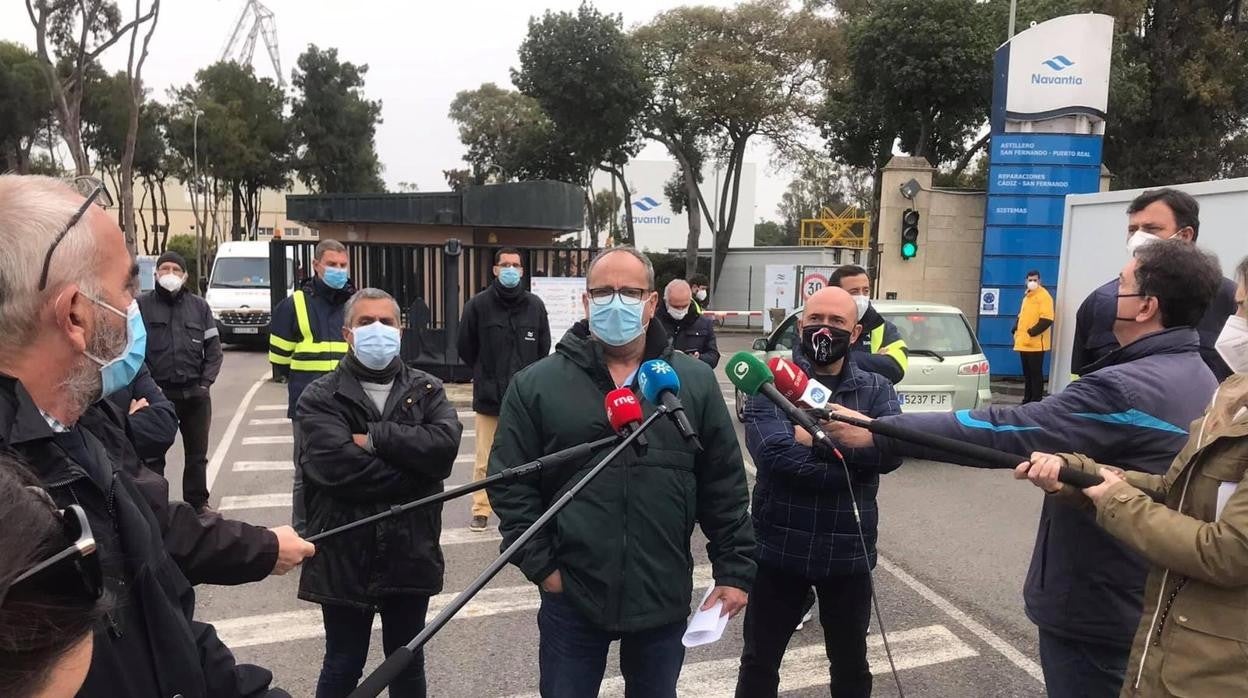
[[[1080,642],[1040,631],[1040,666],[1048,698],[1116,698],[1129,647]]]

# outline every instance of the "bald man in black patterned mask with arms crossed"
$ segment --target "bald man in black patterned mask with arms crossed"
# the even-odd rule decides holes
[[[854,298],[839,287],[824,288],[806,301],[794,360],[831,391],[836,405],[871,417],[900,415],[892,385],[846,358],[861,331]],[[867,698],[875,496],[880,473],[896,469],[901,458],[867,445],[846,450],[842,463],[834,453],[814,450],[809,433],[760,397],[745,407],[745,445],[759,468],[750,509],[759,572],[745,609],[736,696],[776,694],[780,661],[805,611],[806,592],[815,587],[832,696]]]

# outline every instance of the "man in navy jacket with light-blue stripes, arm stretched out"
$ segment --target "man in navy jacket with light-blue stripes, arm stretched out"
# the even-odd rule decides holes
[[[1017,453],[1020,461],[1033,451],[1077,451],[1162,474],[1217,387],[1193,326],[1221,278],[1217,261],[1196,246],[1154,242],[1119,275],[1113,333],[1122,348],[1066,390],[1017,407],[887,421]],[[829,431],[842,447],[872,443],[865,430],[834,423]],[[976,465],[892,438],[874,443],[885,453]],[[1147,573],[1144,559],[1101,529],[1094,514],[1045,499],[1023,598],[1040,627],[1051,698],[1118,696]]]

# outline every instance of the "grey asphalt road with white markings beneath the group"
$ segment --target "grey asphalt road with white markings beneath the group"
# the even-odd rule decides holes
[[[729,336],[720,346],[726,355],[748,343],[748,337]],[[290,521],[291,426],[285,420],[286,386],[267,376],[263,352],[227,348],[212,396],[210,484],[212,504],[226,516],[277,526]],[[726,378],[721,386],[731,400]],[[468,482],[472,474],[474,432],[467,407],[461,418],[464,438],[448,486]],[[181,487],[181,461],[178,443],[168,458],[175,493]],[[998,471],[907,461],[882,478],[881,563],[875,581],[896,678],[906,696],[1043,694],[1036,631],[1021,601],[1040,504],[1035,488]],[[497,531],[469,532],[468,521],[467,499],[444,507],[446,592],[433,599],[434,611],[498,553]],[[700,591],[709,582],[700,534],[694,551]],[[217,624],[240,661],[268,667],[280,686],[302,697],[314,692],[323,634],[319,608],[296,598],[297,584],[292,573],[240,588],[201,586],[197,617]],[[514,568],[504,569],[428,646],[429,696],[537,696],[537,604],[533,586]],[[378,628],[368,669],[382,658]],[[738,618],[718,643],[688,652],[681,696],[733,694],[740,631]],[[816,619],[794,636],[781,671],[784,696],[827,694],[821,633]],[[869,642],[875,696],[897,696],[881,641],[874,622]],[[603,696],[623,696],[614,652],[607,673]]]

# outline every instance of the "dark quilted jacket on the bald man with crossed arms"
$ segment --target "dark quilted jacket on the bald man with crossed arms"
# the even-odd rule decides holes
[[[814,376],[805,357],[794,361]],[[852,361],[845,362],[832,402],[869,417],[901,413],[892,383]],[[845,450],[851,478],[846,481],[835,456],[797,443],[792,430],[766,398],[755,396],[746,403],[745,446],[759,468],[750,509],[755,559],[812,581],[866,573],[876,559],[880,473],[896,469],[901,458],[876,448]],[[854,499],[866,549],[854,521]]]

